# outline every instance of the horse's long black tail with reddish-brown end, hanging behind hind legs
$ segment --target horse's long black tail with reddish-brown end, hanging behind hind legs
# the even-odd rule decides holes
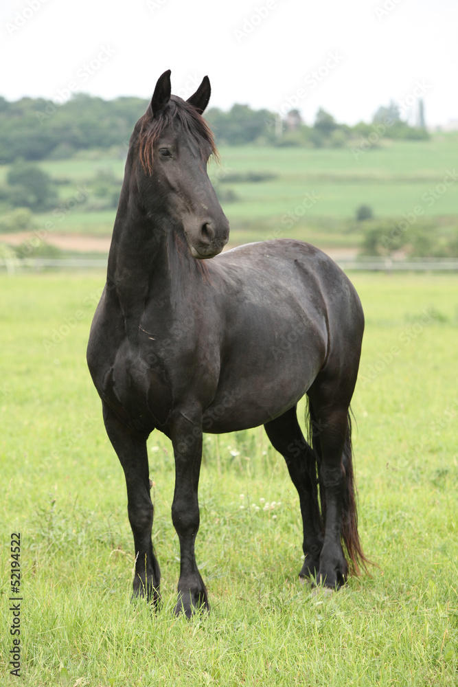
[[[321,506],[321,521],[324,524],[326,519],[326,499],[323,484],[321,482],[321,447],[319,435],[321,428],[319,422],[314,417],[312,404],[308,407],[308,442],[313,449],[316,458],[317,471],[317,490],[312,494],[314,502]],[[367,566],[371,563],[363,552],[358,534],[358,512],[356,504],[356,484],[354,482],[353,452],[352,452],[352,420],[350,409],[347,414],[347,434],[342,458],[343,468],[345,469],[345,492],[343,495],[343,511],[341,517],[341,544],[344,552],[350,559],[350,571],[354,575],[359,575],[361,569],[367,572]],[[319,486],[319,501],[318,501]]]

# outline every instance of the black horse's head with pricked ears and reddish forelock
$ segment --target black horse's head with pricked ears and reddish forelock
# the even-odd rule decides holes
[[[185,101],[170,94],[170,70],[165,71],[130,148],[144,211],[165,231],[182,229],[194,258],[212,258],[229,238],[229,222],[207,174],[207,161],[217,153],[201,116],[209,98],[207,76]]]

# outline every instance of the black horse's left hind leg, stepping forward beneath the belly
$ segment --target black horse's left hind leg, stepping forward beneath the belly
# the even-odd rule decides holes
[[[276,451],[282,453],[291,480],[299,494],[304,526],[304,565],[299,576],[316,576],[319,572],[323,533],[317,489],[317,461],[297,422],[296,407],[264,425]]]

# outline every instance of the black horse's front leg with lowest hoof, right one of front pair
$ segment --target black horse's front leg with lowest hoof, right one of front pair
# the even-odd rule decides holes
[[[199,528],[198,480],[202,460],[202,418],[196,421],[179,415],[171,438],[175,457],[175,491],[172,521],[180,541],[180,578],[175,613],[187,618],[196,609],[209,610],[207,589],[198,572],[194,543]]]

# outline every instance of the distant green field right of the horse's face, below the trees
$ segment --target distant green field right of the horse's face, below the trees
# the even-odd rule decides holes
[[[363,203],[376,216],[400,216],[422,205],[428,216],[455,214],[458,184],[450,186],[428,205],[422,194],[453,170],[458,137],[434,138],[426,142],[390,142],[354,159],[352,151],[306,148],[222,148],[223,169],[234,172],[266,171],[279,174],[277,181],[230,184],[240,202],[225,207],[231,223],[294,212],[307,192],[320,199],[306,213],[319,216],[354,217]],[[301,222],[302,223],[302,222]]]

